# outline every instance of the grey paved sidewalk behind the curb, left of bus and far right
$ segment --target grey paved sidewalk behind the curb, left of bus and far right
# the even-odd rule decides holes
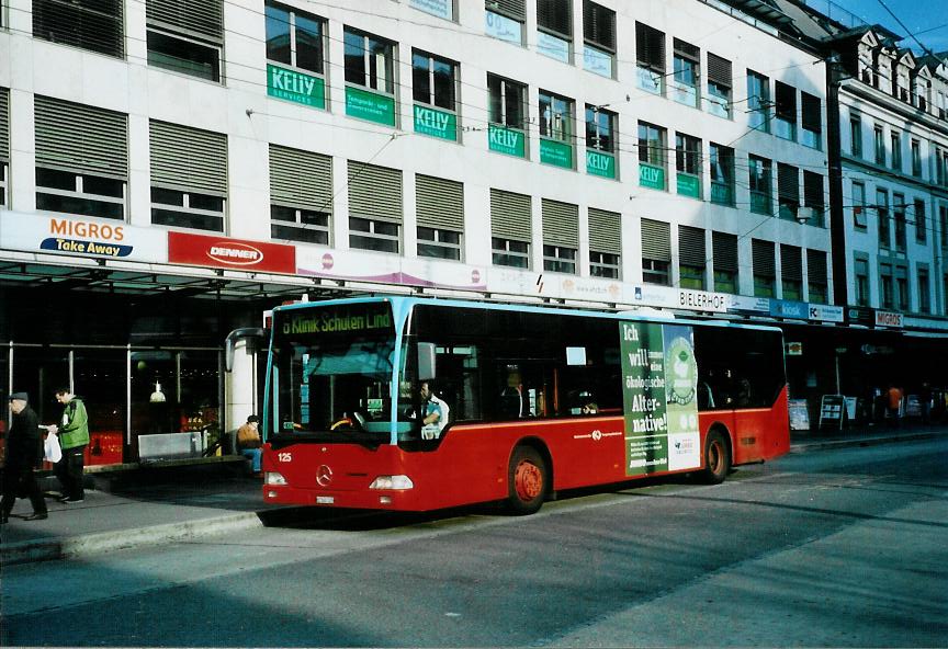
[[[843,431],[792,431],[791,453],[864,446],[948,435],[948,426],[871,426]],[[217,458],[222,459],[222,458]],[[162,542],[238,533],[263,526],[267,505],[260,478],[246,475],[242,463],[169,463],[116,467],[87,476],[86,501],[61,504],[47,499],[49,517],[24,521],[32,510],[20,499],[10,522],[0,526],[0,566],[70,558]],[[44,487],[55,488],[55,478]]]

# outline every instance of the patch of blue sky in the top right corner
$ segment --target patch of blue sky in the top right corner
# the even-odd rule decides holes
[[[921,52],[918,44],[909,37],[910,33],[914,33],[933,52],[948,50],[948,0],[882,1],[909,27],[909,33],[895,22],[879,0],[806,0],[806,3],[839,22],[849,24],[848,19],[842,20],[845,15],[840,11],[843,9],[864,22],[889,27],[896,34],[906,36],[901,43],[903,47],[910,46],[913,50]]]

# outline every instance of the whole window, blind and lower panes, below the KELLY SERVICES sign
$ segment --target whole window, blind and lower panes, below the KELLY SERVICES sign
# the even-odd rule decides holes
[[[270,145],[270,236],[329,244],[332,159]]]

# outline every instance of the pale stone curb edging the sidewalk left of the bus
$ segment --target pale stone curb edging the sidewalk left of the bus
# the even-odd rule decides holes
[[[259,513],[246,512],[181,523],[166,523],[150,527],[44,540],[24,540],[3,546],[0,550],[0,566],[66,559],[79,555],[156,545],[163,542],[189,540],[224,532],[241,532],[262,526],[263,522]]]

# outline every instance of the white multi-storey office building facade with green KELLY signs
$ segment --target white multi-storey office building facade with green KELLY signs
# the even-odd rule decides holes
[[[285,299],[777,322],[794,396],[838,389],[826,62],[770,3],[0,14],[2,387],[72,385],[125,459],[258,409],[222,344]]]

